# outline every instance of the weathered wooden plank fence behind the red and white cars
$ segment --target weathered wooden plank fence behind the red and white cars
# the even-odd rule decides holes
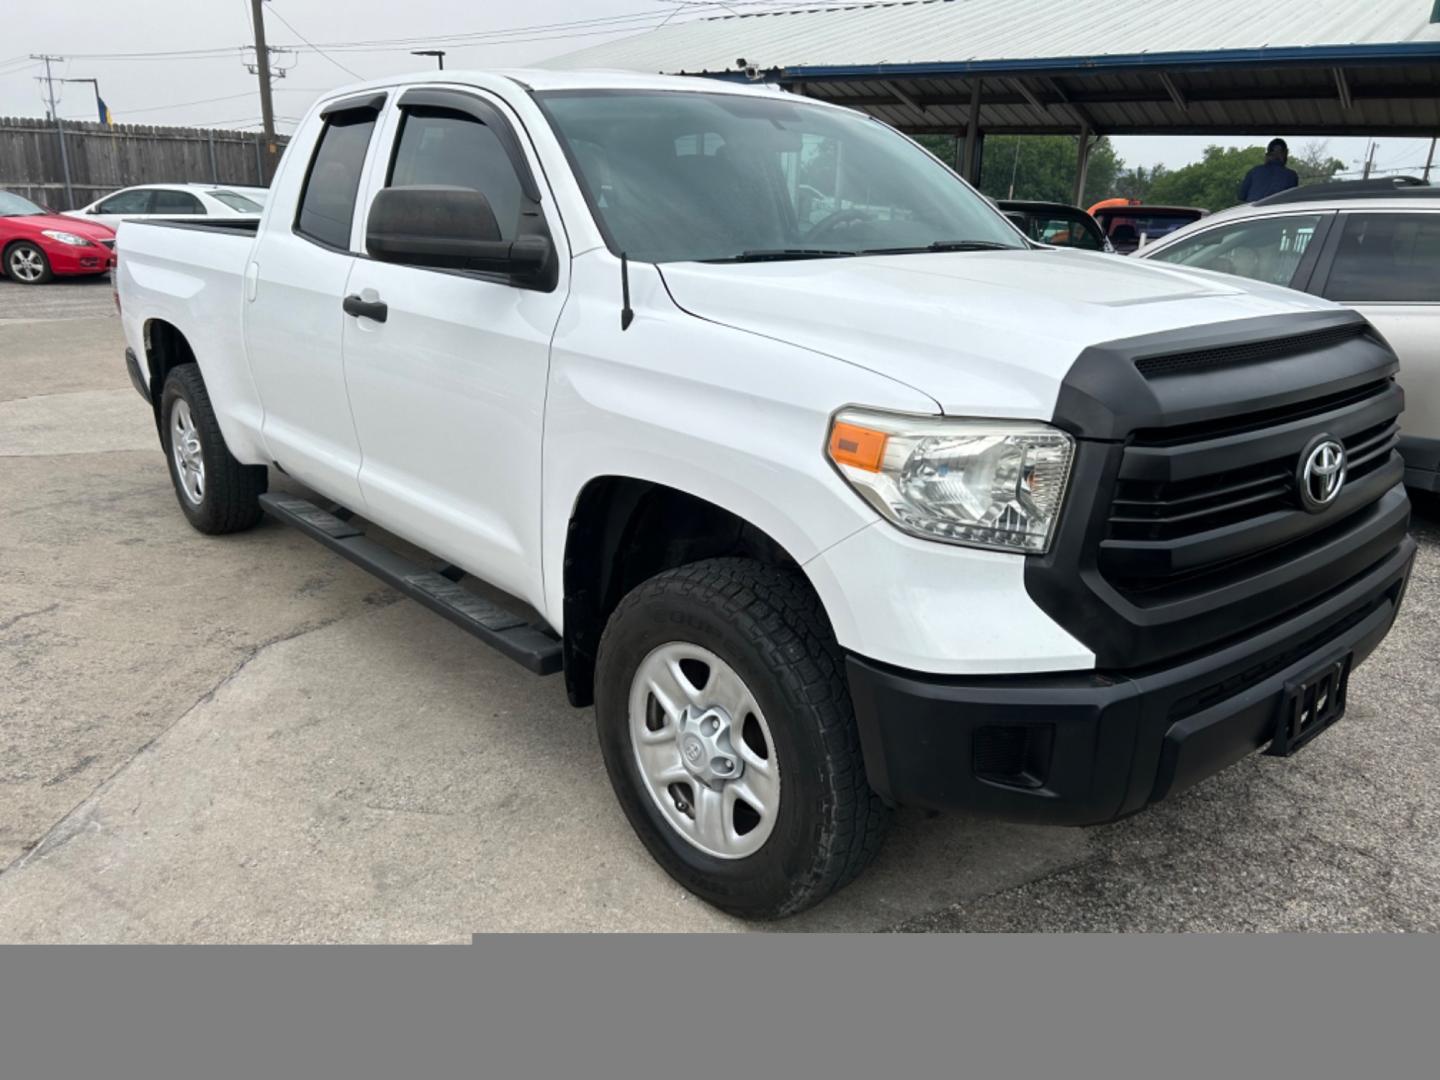
[[[264,137],[248,131],[65,121],[63,137],[62,157],[55,121],[0,118],[0,189],[56,210],[73,210],[131,184],[197,180],[264,187],[275,171],[266,161]],[[285,144],[284,138],[275,141]]]

